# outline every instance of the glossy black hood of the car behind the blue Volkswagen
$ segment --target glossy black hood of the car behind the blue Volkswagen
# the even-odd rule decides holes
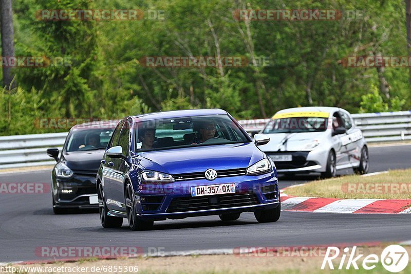
[[[104,150],[63,152],[63,163],[71,170],[97,171]]]

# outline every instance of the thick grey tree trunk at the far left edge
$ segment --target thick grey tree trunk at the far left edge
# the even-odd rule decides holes
[[[2,55],[4,58],[14,57],[14,32],[13,32],[13,12],[11,0],[1,0],[0,4],[1,24],[2,24]],[[11,67],[3,67],[3,86],[7,88],[15,87],[15,83],[10,86],[14,75]]]

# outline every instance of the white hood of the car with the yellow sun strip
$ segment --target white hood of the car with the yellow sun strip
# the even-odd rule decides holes
[[[314,142],[314,140],[321,140],[325,137],[327,131],[322,132],[296,132],[296,133],[271,133],[267,134],[270,141],[261,145],[259,148],[264,152],[276,151],[311,151],[307,145]]]

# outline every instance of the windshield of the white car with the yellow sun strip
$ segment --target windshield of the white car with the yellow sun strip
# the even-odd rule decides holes
[[[319,132],[325,131],[328,118],[290,117],[269,121],[263,133]]]

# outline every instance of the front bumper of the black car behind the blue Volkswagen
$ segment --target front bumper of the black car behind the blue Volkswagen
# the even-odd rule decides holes
[[[52,178],[53,207],[55,208],[98,208],[96,175],[74,173],[69,178]]]

